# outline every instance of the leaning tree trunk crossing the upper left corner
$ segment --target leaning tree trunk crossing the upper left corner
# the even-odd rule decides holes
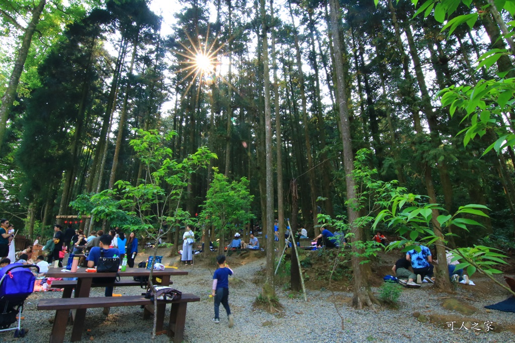
[[[2,97],[2,105],[0,105],[0,150],[2,149],[2,143],[4,142],[4,136],[7,130],[7,119],[9,118],[14,98],[16,97],[16,89],[18,89],[23,67],[27,60],[30,44],[32,43],[32,36],[36,31],[36,26],[39,23],[41,13],[43,12],[45,5],[46,0],[40,0],[38,6],[36,6],[32,11],[32,19],[25,29],[22,45],[20,46],[20,49],[18,49],[18,56],[16,57],[14,68],[12,69],[11,76],[9,77],[9,84],[4,96]]]

